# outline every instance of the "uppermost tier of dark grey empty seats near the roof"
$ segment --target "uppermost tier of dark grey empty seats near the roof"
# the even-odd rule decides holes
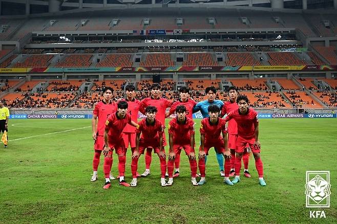
[[[324,21],[329,21],[327,25]],[[335,14],[300,14],[236,9],[179,9],[165,12],[118,13],[100,15],[77,13],[28,19],[1,19],[0,40],[19,40],[31,32],[121,31],[139,35],[143,30],[166,30],[166,34],[181,34],[200,29],[299,29],[308,37],[337,35]]]

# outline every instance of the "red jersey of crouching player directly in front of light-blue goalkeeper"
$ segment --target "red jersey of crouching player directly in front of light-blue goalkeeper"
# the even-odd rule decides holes
[[[227,132],[226,121],[223,118],[218,118],[217,123],[210,122],[210,118],[204,118],[200,124],[200,134],[205,135],[205,142],[218,142],[223,139],[221,132]]]

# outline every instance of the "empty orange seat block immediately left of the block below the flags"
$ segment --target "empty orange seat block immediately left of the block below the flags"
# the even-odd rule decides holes
[[[132,66],[131,54],[109,54],[99,61],[96,67],[130,67]]]

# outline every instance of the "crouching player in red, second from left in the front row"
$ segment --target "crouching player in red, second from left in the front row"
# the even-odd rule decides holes
[[[145,108],[146,119],[138,123],[136,130],[136,149],[132,154],[131,172],[132,182],[131,186],[137,186],[137,168],[140,154],[144,153],[145,148],[153,148],[158,154],[160,160],[161,186],[166,186],[165,172],[166,172],[166,155],[163,148],[163,131],[164,126],[156,119],[157,108],[155,106],[147,106]]]

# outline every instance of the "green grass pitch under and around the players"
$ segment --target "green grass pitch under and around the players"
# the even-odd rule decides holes
[[[196,122],[198,130],[200,120]],[[204,186],[192,186],[187,157],[182,153],[181,174],[171,187],[160,186],[159,160],[154,155],[152,174],[139,178],[136,188],[113,181],[109,190],[103,190],[103,157],[98,181],[90,182],[90,125],[89,119],[10,120],[9,138],[15,141],[7,149],[0,144],[0,223],[337,222],[337,119],[261,119],[266,187],[258,184],[252,156],[252,177],[242,176],[235,186],[224,185],[215,152],[210,150]],[[196,141],[199,144],[198,131]],[[129,183],[130,159],[129,150]],[[117,163],[114,156],[115,176]],[[139,172],[143,170],[142,155]],[[329,209],[305,208],[307,170],[330,171]],[[310,218],[310,210],[324,210],[326,218]]]

